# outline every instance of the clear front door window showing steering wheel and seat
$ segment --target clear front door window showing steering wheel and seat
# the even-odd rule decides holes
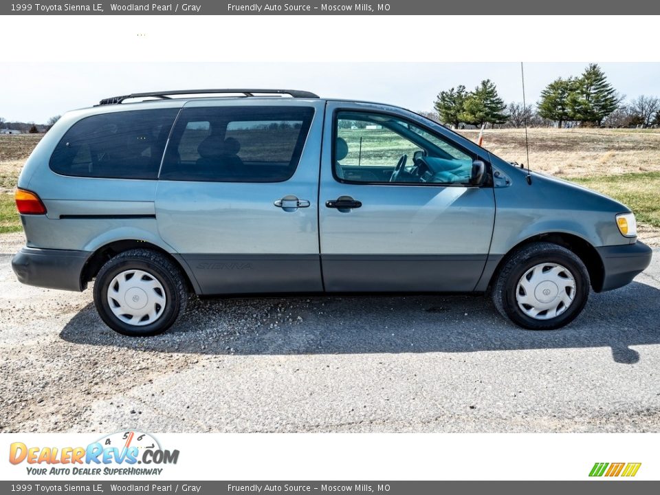
[[[337,179],[371,184],[470,184],[474,157],[408,120],[340,111],[335,125]]]

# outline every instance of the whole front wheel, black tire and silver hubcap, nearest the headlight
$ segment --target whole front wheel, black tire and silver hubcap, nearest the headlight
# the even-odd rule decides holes
[[[503,316],[532,330],[568,325],[589,295],[589,274],[575,253],[533,243],[513,254],[496,277],[492,298]]]

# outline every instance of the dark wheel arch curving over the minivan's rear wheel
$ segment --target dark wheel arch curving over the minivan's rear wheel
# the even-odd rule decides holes
[[[167,252],[159,245],[140,239],[121,239],[118,241],[112,241],[100,246],[100,248],[97,248],[91,254],[91,256],[89,256],[87,262],[83,266],[83,270],[80,272],[80,287],[82,287],[84,290],[87,287],[87,283],[96,277],[96,274],[98,274],[104,263],[113,258],[113,256],[117,256],[124,251],[133,249],[155,251],[165,256],[172,263],[174,263],[175,266],[179,267],[181,273],[184,274],[184,280],[186,281],[187,289],[189,291],[195,291],[197,294],[199,294],[199,286],[195,280],[195,276],[192,274],[188,264],[183,259],[181,259],[180,256]]]

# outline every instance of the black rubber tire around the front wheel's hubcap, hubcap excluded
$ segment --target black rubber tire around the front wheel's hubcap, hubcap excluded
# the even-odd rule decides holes
[[[555,316],[540,320],[525,314],[518,306],[516,290],[522,276],[540,263],[556,263],[569,270],[575,279],[573,301],[564,311]],[[584,309],[589,296],[589,274],[575,253],[553,243],[538,242],[523,246],[511,254],[503,263],[494,278],[492,299],[502,316],[516,325],[530,330],[553,330],[568,325]]]

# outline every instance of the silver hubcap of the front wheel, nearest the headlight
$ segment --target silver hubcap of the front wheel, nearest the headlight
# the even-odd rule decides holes
[[[575,298],[575,278],[557,263],[539,263],[520,277],[518,307],[535,320],[549,320],[569,309]]]

